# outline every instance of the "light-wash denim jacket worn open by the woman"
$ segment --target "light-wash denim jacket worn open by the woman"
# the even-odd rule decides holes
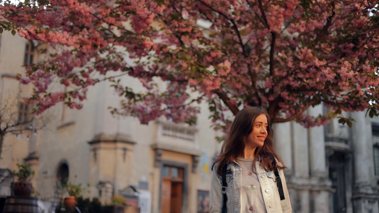
[[[279,169],[279,176],[282,180],[284,200],[280,200],[277,190],[276,177],[274,171],[266,172],[261,163],[255,164],[259,183],[262,189],[263,200],[268,213],[291,213],[290,197],[288,196],[287,185],[285,182],[283,169]],[[227,213],[241,213],[241,166],[235,161],[229,162],[226,174],[226,195]],[[217,166],[213,168],[210,188],[210,212],[220,213],[222,209],[222,177],[217,174]]]

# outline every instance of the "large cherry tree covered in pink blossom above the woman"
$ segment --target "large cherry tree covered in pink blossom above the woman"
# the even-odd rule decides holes
[[[37,114],[58,102],[79,109],[89,86],[111,81],[125,97],[111,112],[142,123],[194,123],[205,101],[216,129],[242,106],[266,108],[271,122],[351,125],[343,111],[378,115],[377,9],[374,0],[6,0],[0,30],[57,50],[20,78],[35,86]],[[53,82],[76,89],[49,92]],[[319,104],[331,113],[306,115]]]

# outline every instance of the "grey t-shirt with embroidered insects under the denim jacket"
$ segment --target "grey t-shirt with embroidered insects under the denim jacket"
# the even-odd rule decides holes
[[[267,213],[258,175],[253,172],[254,158],[238,158],[241,166],[241,212]]]

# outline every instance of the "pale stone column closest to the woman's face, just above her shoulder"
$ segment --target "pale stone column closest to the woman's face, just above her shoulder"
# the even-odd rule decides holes
[[[287,174],[292,174],[291,122],[274,124],[273,130],[275,151],[288,167]]]

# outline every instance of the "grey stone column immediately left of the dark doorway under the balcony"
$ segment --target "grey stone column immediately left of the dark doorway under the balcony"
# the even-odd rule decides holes
[[[323,106],[308,109],[308,115],[317,117],[323,114]],[[315,213],[329,212],[330,181],[326,173],[326,153],[324,126],[308,129],[310,182]]]

